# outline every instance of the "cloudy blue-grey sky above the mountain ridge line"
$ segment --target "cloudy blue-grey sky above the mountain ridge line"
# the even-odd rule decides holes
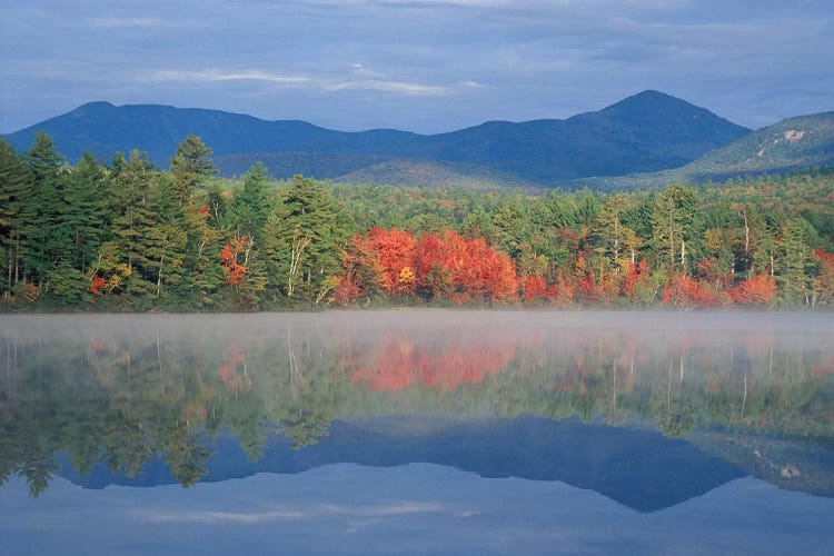
[[[89,101],[450,131],[645,89],[834,110],[831,0],[0,0],[0,132]]]

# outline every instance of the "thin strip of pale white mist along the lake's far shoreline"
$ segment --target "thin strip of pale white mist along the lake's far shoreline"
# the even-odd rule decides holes
[[[665,312],[665,311],[513,311],[513,310],[380,310],[328,312],[259,312],[228,315],[6,315],[4,337],[41,341],[95,338],[145,338],[210,341],[234,336],[240,340],[279,337],[287,330],[318,336],[351,335],[367,340],[396,329],[413,337],[437,330],[471,330],[490,338],[502,331],[558,334],[589,330],[600,336],[628,332],[668,339],[697,335],[704,341],[770,334],[802,338],[834,334],[834,316],[810,312]],[[367,336],[367,337],[366,337]]]

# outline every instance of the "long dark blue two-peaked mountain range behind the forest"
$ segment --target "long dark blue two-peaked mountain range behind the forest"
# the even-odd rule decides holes
[[[167,166],[176,146],[192,133],[215,150],[225,175],[239,175],[249,163],[264,160],[279,178],[359,172],[366,181],[415,185],[435,168],[464,181],[549,187],[589,176],[679,167],[749,132],[658,91],[565,120],[489,121],[430,136],[390,129],[345,132],[219,110],[91,102],[6,139],[24,150],[39,129],[52,136],[70,160],[85,150],[109,158],[136,148]],[[415,172],[416,167],[423,170]]]

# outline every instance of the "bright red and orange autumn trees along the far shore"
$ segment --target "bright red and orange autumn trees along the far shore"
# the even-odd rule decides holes
[[[834,255],[818,250],[814,257],[820,267],[815,291],[826,299],[834,295]],[[778,292],[768,272],[738,279],[712,257],[704,257],[693,275],[671,269],[655,274],[646,259],[620,259],[617,266],[600,265],[599,258],[590,260],[593,265],[579,252],[569,266],[519,276],[513,259],[484,238],[466,238],[450,229],[418,238],[397,228],[373,228],[365,236],[355,236],[345,249],[342,274],[330,300],[348,305],[386,296],[458,304],[610,306],[645,305],[662,292],[664,305],[693,308],[766,306],[775,302]],[[523,268],[530,271],[534,267]]]

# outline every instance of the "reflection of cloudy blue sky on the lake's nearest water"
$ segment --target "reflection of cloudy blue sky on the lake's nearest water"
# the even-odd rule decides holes
[[[0,488],[11,554],[830,554],[834,500],[742,478],[642,514],[559,481],[430,464],[85,490]]]

